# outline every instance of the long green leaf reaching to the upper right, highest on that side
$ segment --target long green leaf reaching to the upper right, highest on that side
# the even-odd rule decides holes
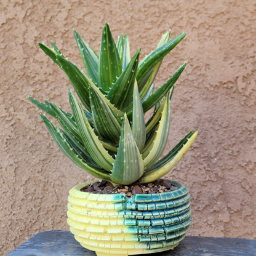
[[[169,52],[174,49],[177,44],[185,38],[186,34],[182,33],[180,36],[176,36],[174,39],[171,39],[169,42],[166,42],[163,46],[151,52],[150,55],[146,56],[138,66],[137,72],[137,82],[138,90],[141,91],[143,86],[145,86],[146,81],[148,80],[151,71],[154,66],[160,62]]]

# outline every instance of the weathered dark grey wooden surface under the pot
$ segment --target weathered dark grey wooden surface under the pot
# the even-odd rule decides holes
[[[95,256],[80,246],[69,231],[38,233],[7,256]],[[186,236],[174,250],[145,256],[255,256],[256,241],[239,238]]]

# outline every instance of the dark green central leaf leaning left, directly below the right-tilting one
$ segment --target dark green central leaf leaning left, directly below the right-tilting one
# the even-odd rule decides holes
[[[114,111],[111,110],[98,93],[90,88],[90,106],[94,120],[94,127],[97,133],[104,138],[118,145],[122,121]]]

